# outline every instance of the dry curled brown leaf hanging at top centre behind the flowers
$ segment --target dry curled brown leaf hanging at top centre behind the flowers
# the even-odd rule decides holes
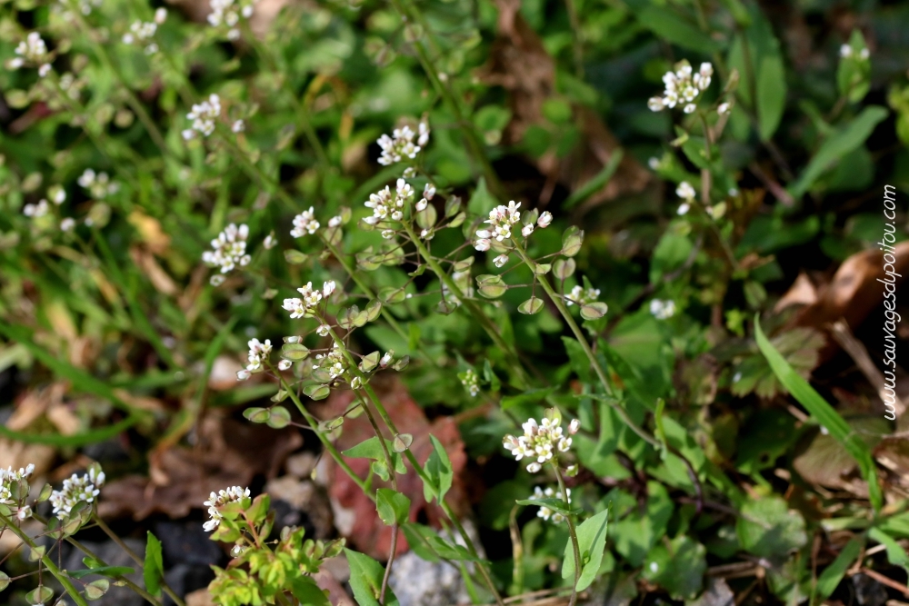
[[[520,0],[497,0],[495,4],[499,9],[499,37],[479,75],[486,84],[499,85],[508,91],[512,121],[505,129],[504,140],[516,144],[529,126],[545,123],[543,105],[555,93],[555,64],[540,37],[520,14]],[[586,184],[603,169],[618,147],[613,134],[590,109],[575,105],[574,122],[581,141],[572,153],[564,158],[544,154],[537,160],[537,168],[546,176],[540,193],[541,204],[549,201],[557,183],[569,191]],[[649,181],[650,174],[626,154],[609,183],[590,196],[578,213],[584,214],[596,204],[620,195],[641,192]]]

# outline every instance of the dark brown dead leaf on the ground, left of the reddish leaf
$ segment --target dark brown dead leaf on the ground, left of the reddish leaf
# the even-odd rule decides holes
[[[199,422],[195,448],[151,452],[152,479],[132,475],[109,482],[98,512],[105,518],[142,520],[155,512],[180,518],[202,508],[210,492],[248,486],[260,474],[275,477],[287,455],[302,444],[293,428],[273,430],[209,412]]]

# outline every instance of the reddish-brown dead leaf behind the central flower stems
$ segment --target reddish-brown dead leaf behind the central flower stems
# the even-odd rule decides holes
[[[454,483],[451,491],[448,492],[446,501],[455,512],[466,512],[469,505],[466,500],[463,473],[467,455],[454,420],[451,417],[439,417],[429,422],[423,409],[410,397],[404,384],[396,379],[375,380],[373,385],[385,409],[395,422],[397,430],[414,436],[410,450],[418,462],[424,464],[433,452],[432,442],[429,440],[430,434],[435,435],[435,438],[442,442],[448,458],[451,459],[454,471]],[[339,393],[329,398],[320,407],[319,413],[325,419],[338,416],[347,410],[352,400],[351,392]],[[375,436],[365,415],[346,420],[342,427],[341,437],[335,444],[340,451],[352,448]],[[391,438],[388,435],[385,437]],[[366,477],[370,465],[368,459],[347,459],[347,462],[357,475],[361,478]],[[388,550],[391,548],[391,528],[379,520],[375,512],[375,503],[363,494],[345,472],[337,468],[334,461],[325,459],[325,471],[328,477],[329,496],[335,510],[335,526],[339,531],[343,531],[360,551],[368,553],[377,560],[385,560],[388,557]],[[376,488],[385,486],[380,481],[373,483]],[[399,475],[397,484],[398,492],[403,492],[411,500],[410,520],[415,521],[418,516],[425,514],[426,520],[430,524],[437,525],[443,514],[435,504],[431,505],[425,501],[423,482],[419,476],[415,472]],[[397,552],[402,553],[406,550],[405,538],[399,536]]]

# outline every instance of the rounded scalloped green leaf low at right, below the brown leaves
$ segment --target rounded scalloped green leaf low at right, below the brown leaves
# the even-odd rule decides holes
[[[781,558],[808,542],[802,514],[777,496],[745,502],[735,531],[745,551],[763,558]]]

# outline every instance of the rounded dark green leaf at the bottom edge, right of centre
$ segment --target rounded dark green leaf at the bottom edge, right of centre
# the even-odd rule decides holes
[[[704,582],[706,553],[704,545],[680,534],[647,554],[643,576],[662,585],[673,600],[691,600]]]

